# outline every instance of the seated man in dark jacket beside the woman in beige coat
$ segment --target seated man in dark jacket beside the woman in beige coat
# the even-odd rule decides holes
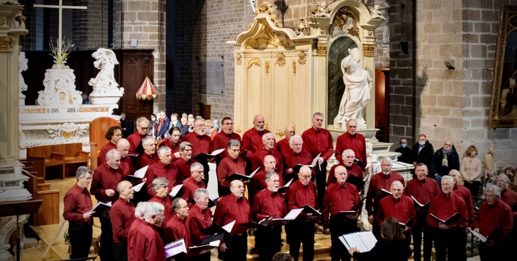
[[[429,172],[436,179],[438,185],[442,176],[449,175],[451,170],[460,171],[460,156],[451,141],[446,141],[444,146],[433,155]]]

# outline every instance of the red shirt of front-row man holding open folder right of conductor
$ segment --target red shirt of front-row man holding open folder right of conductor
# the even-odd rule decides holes
[[[454,213],[460,212],[460,218],[457,221],[452,222],[452,226],[455,228],[466,227],[468,224],[467,207],[463,199],[456,193],[445,195],[440,193],[431,201],[429,206],[429,213],[427,215],[427,223],[431,227],[438,227],[438,222],[434,219],[431,214],[434,214],[439,219],[446,220],[451,217]]]

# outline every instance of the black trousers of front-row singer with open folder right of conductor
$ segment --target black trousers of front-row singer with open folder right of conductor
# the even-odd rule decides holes
[[[434,228],[434,249],[436,250],[436,261],[461,260],[461,251],[465,251],[465,244],[462,247],[462,233],[465,228],[440,229]]]

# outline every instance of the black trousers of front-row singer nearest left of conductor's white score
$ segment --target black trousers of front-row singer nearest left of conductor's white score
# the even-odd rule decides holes
[[[352,256],[348,254],[348,251],[346,250],[341,240],[339,240],[339,237],[346,233],[359,231],[359,228],[357,227],[357,220],[330,217],[329,226],[330,242],[332,243],[332,247],[330,250],[330,254],[332,256],[331,260],[350,261],[350,258],[352,258]]]

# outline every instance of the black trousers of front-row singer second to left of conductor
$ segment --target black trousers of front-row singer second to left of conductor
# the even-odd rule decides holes
[[[314,220],[294,220],[289,223],[289,254],[295,261],[300,256],[300,244],[303,247],[303,261],[314,259]],[[287,228],[287,226],[286,226]]]

